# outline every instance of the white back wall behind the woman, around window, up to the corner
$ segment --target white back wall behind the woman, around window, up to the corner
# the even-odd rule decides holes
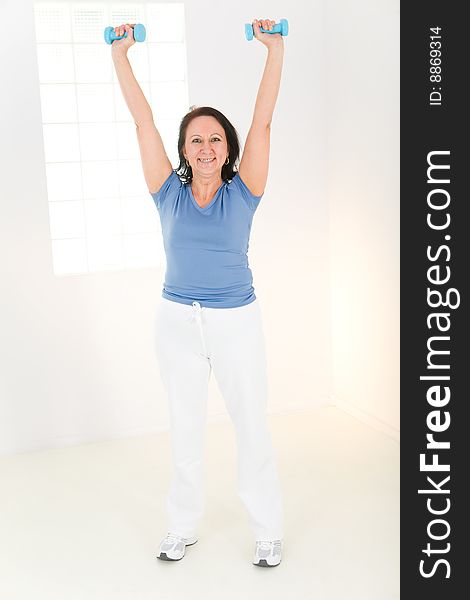
[[[291,24],[250,264],[270,410],[315,406],[332,382],[323,2],[185,4],[190,103],[226,112],[242,139],[265,57],[243,24],[271,16]],[[21,35],[3,28],[0,58],[0,453],[165,429],[152,341],[163,272],[53,275],[32,1],[2,2],[2,20],[20,23]],[[215,417],[225,409],[211,385]]]

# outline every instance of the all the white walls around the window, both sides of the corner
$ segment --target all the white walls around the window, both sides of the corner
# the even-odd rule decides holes
[[[396,432],[399,2],[185,5],[190,103],[226,112],[242,140],[265,56],[243,23],[291,25],[250,243],[270,410],[334,396]],[[0,58],[0,453],[165,429],[152,341],[164,274],[53,275],[32,1],[3,1],[2,16],[22,35],[4,29]],[[212,381],[209,419],[224,414]]]

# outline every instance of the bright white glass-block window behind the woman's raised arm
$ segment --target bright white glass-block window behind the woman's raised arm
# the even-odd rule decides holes
[[[158,213],[103,32],[145,25],[146,40],[129,60],[176,166],[188,110],[183,3],[38,2],[34,9],[54,273],[162,264]]]

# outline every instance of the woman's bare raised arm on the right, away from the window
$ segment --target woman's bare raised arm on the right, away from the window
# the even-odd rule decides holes
[[[253,21],[254,35],[267,47],[268,56],[238,172],[255,196],[263,194],[268,179],[271,121],[284,60],[284,40],[281,34],[260,32],[260,25],[263,29],[272,29],[274,24],[270,20]]]

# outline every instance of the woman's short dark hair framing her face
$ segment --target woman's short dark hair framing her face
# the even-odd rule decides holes
[[[229,150],[229,162],[227,165],[222,167],[222,179],[233,179],[233,176],[235,173],[237,173],[235,163],[238,161],[240,154],[240,143],[238,141],[237,130],[225,115],[211,106],[199,106],[197,108],[192,108],[192,110],[190,110],[182,118],[178,135],[178,156],[180,159],[180,164],[176,169],[177,174],[184,183],[191,183],[193,180],[193,170],[186,164],[186,159],[184,158],[183,154],[183,147],[186,140],[186,130],[188,129],[188,125],[196,117],[214,117],[214,119],[217,119],[217,121],[224,128]]]

